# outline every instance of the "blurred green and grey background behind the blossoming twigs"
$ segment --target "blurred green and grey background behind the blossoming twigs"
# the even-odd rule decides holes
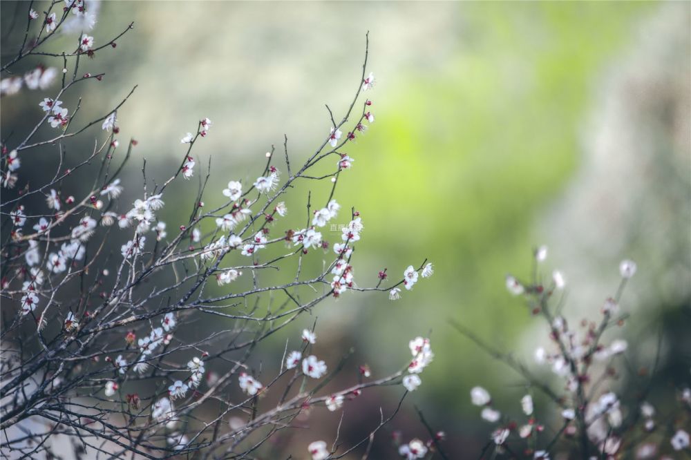
[[[4,62],[21,40],[11,27],[28,3],[0,8]],[[377,83],[367,96],[376,122],[347,149],[354,167],[335,195],[365,224],[355,278],[375,285],[377,271],[386,267],[398,278],[424,258],[435,275],[396,302],[384,294],[327,300],[287,335],[316,319],[328,362],[354,347],[352,365],[368,363],[374,376],[408,358],[410,338],[430,336],[435,361],[375,443],[375,458],[395,456],[392,430],[406,441],[426,439],[413,405],[447,433],[452,458],[477,458],[492,425],[470,404],[475,385],[498,408],[520,414],[525,382],[450,321],[533,367],[533,350],[548,343],[545,326],[509,295],[504,276],[527,278],[540,244],[549,247],[545,276],[563,271],[565,314],[577,320],[598,314],[614,294],[618,262],[636,260],[622,303],[634,319],[612,337],[630,339],[627,370],[635,371],[650,365],[663,332],[655,394],[688,385],[690,3],[111,1],[93,11],[95,46],[135,23],[117,48],[97,52],[82,68],[106,76],[84,86],[79,114],[82,121],[105,115],[138,85],[118,112],[122,144],[139,142],[123,180],[124,204],[141,194],[142,160],[150,179],[167,178],[183,155],[180,138],[202,117],[214,125],[195,146],[196,176],[210,159],[207,190],[218,195],[211,204],[220,203],[216,191],[229,180],[253,182],[284,133],[292,162],[306,159],[330,128],[324,104],[337,119],[350,104],[369,31],[368,70]],[[55,49],[70,48],[82,28],[74,24]],[[26,70],[61,68],[60,59],[48,59],[27,59]],[[24,120],[40,119],[38,103],[47,96],[22,91],[1,99],[3,140],[21,137]],[[68,93],[64,106],[77,97]],[[52,132],[41,130],[42,138]],[[89,133],[71,144],[70,155],[88,153],[103,136],[100,127]],[[50,174],[55,148],[28,155],[39,160],[23,164],[46,168],[23,169],[23,178]],[[288,222],[303,221],[308,186],[314,195],[330,184],[296,189]],[[176,205],[160,215],[172,229],[189,215],[190,190],[168,195]],[[285,335],[265,343],[258,361],[276,361]],[[627,370],[618,385],[635,388],[636,372]],[[354,378],[344,373],[338,383]],[[378,408],[391,412],[401,391],[379,389],[345,405],[341,439],[359,441],[376,425]],[[541,419],[555,419],[547,401],[538,397],[536,407]],[[304,458],[306,443],[333,439],[339,418],[314,410],[304,420],[310,429],[292,433],[281,453]],[[262,454],[278,458],[270,449]]]

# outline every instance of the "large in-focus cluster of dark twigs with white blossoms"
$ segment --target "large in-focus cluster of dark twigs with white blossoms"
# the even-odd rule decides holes
[[[66,0],[61,12],[60,5],[53,1],[42,17],[29,5],[21,49],[2,66],[12,73],[26,57],[41,56],[59,59],[63,75],[60,88],[50,93],[48,77],[59,75],[53,68],[39,66],[40,72],[32,70],[23,79],[2,80],[3,97],[20,93],[23,84],[41,90],[35,125],[26,138],[1,141],[3,454],[54,457],[50,441],[65,435],[77,456],[249,458],[312,408],[337,411],[379,385],[402,384],[404,394],[415,390],[433,358],[426,338],[410,342],[413,357],[399,369],[373,378],[368,367],[357,367],[357,380],[339,390],[325,387],[347,368],[348,356],[340,363],[319,358],[325,352],[314,326],[298,341],[288,337],[283,356],[256,358],[266,338],[325,299],[348,291],[381,291],[398,298],[400,285],[410,290],[418,274],[433,273],[424,261],[388,286],[384,270],[372,277],[374,286],[361,287],[352,265],[363,231],[359,213],[351,209],[337,242],[331,244],[321,233],[342,213],[334,192],[339,176],[354,162],[344,149],[375,121],[370,99],[361,101],[374,84],[372,73],[366,74],[367,52],[352,103],[340,122],[331,115],[331,128],[301,166],[291,164],[286,138],[284,155],[272,147],[254,182],[231,178],[227,188],[208,192],[207,173],[200,178],[189,218],[169,225],[160,210],[173,199],[173,184],[189,187],[187,181],[200,176],[193,148],[214,133],[212,122],[202,118],[196,131],[182,137],[180,164],[167,180],[152,188],[144,166],[142,195],[132,204],[122,202],[125,189],[134,189],[124,183],[122,172],[138,143],[132,139],[121,146],[118,114],[134,88],[120,104],[79,128],[74,125],[81,99],[68,108],[64,97],[88,81],[102,80],[102,73],[80,76],[80,60],[115,48],[115,39],[133,24],[113,39],[80,33],[73,50],[41,52],[70,15],[88,12],[84,0]],[[27,41],[30,34],[36,36]],[[104,45],[95,48],[99,42]],[[359,101],[362,110],[355,115]],[[41,138],[46,125],[55,131]],[[93,150],[68,162],[69,142],[92,133],[86,131],[91,126],[102,128]],[[59,155],[59,166],[51,180],[37,185],[29,181],[30,174],[21,173],[22,166],[39,161],[35,155],[41,148],[42,154],[53,150]],[[325,163],[332,173],[310,175]],[[93,185],[77,195],[73,190],[79,187],[70,179],[83,169],[91,169]],[[310,194],[304,228],[278,231],[276,224],[288,212],[282,198],[304,180],[330,181],[330,193],[323,198]],[[223,203],[207,210],[205,199]],[[315,200],[323,207],[311,212]],[[109,242],[118,234],[126,235],[126,242],[112,248]],[[322,262],[323,269],[310,273],[310,259]],[[267,282],[272,278],[263,276],[281,269],[293,270],[292,280]],[[203,327],[190,331],[196,323],[211,327],[205,334],[200,334]],[[315,441],[303,452],[314,459],[343,457],[371,443],[388,420],[381,412],[377,428],[350,448],[337,437],[330,447]]]

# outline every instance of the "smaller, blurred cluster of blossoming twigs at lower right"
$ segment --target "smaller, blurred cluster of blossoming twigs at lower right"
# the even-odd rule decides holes
[[[560,271],[553,271],[551,278],[542,278],[540,267],[547,259],[547,247],[536,249],[534,256],[529,281],[507,276],[506,285],[511,294],[524,298],[533,316],[547,325],[551,345],[538,347],[535,361],[549,366],[562,385],[553,389],[549,381],[538,378],[517,358],[499,352],[470,329],[454,323],[461,334],[518,372],[527,388],[527,394],[520,399],[522,421],[516,421],[495,408],[487,390],[473,387],[471,402],[482,408],[480,416],[484,421],[495,425],[480,457],[505,453],[514,458],[534,459],[560,458],[559,454],[584,459],[614,459],[622,455],[648,459],[658,458],[656,455],[665,451],[687,450],[689,434],[684,423],[690,419],[691,390],[679,388],[676,409],[670,414],[657,414],[647,401],[657,360],[652,370],[643,372],[648,379],[645,390],[634,395],[617,394],[616,362],[623,358],[628,345],[621,338],[606,339],[605,333],[621,327],[629,318],[619,305],[627,282],[636,273],[636,264],[631,260],[621,262],[621,282],[616,294],[604,301],[599,318],[583,319],[580,327],[572,327],[562,314],[565,277]],[[552,407],[536,411],[533,392],[545,396]]]

